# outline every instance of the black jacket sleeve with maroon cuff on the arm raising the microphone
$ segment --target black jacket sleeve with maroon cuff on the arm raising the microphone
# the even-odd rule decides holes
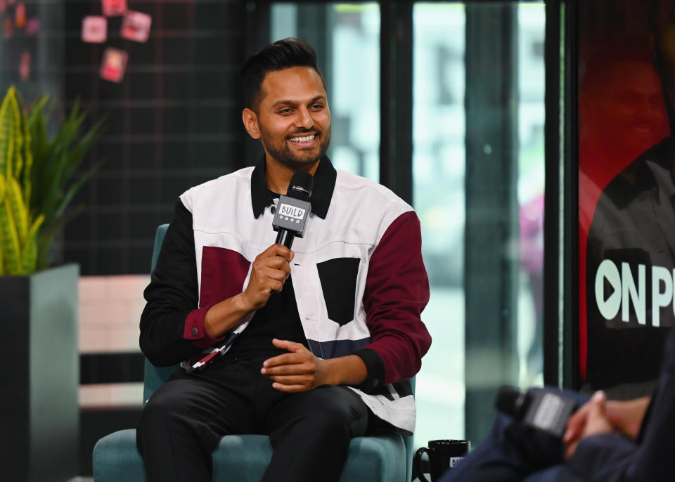
[[[192,214],[180,201],[143,296],[139,344],[153,365],[174,365],[217,341],[204,331],[210,306],[198,306]]]

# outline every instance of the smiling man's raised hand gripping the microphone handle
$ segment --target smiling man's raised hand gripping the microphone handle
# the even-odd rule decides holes
[[[282,245],[271,245],[258,254],[251,266],[251,275],[242,299],[249,311],[259,310],[272,293],[281,292],[290,274],[290,261],[295,253]]]

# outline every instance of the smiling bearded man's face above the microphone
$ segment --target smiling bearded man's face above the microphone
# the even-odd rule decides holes
[[[311,167],[330,143],[330,110],[319,73],[311,67],[269,72],[253,122],[245,113],[246,129],[262,141],[268,162],[293,170]]]

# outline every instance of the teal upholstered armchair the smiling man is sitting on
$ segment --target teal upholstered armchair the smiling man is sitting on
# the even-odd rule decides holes
[[[167,225],[163,224],[155,235],[153,268],[166,230]],[[146,360],[143,403],[176,370],[179,370],[179,365],[155,367]],[[411,382],[414,392],[415,380]],[[257,482],[262,478],[271,455],[272,447],[267,436],[224,436],[213,452],[213,480]],[[412,457],[412,437],[353,438],[340,482],[408,482],[411,480]],[[101,438],[94,446],[93,464],[94,482],[146,481],[143,459],[136,449],[135,429],[116,431]]]

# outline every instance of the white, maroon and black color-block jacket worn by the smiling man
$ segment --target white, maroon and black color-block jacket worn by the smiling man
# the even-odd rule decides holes
[[[264,160],[181,195],[145,292],[140,341],[152,363],[172,365],[217,345],[205,333],[205,313],[243,291],[252,261],[274,243],[276,201]],[[431,343],[420,319],[429,285],[415,212],[324,157],[293,251],[290,279],[309,349],[324,359],[360,356],[368,378],[352,389],[375,415],[411,433],[407,379]]]

